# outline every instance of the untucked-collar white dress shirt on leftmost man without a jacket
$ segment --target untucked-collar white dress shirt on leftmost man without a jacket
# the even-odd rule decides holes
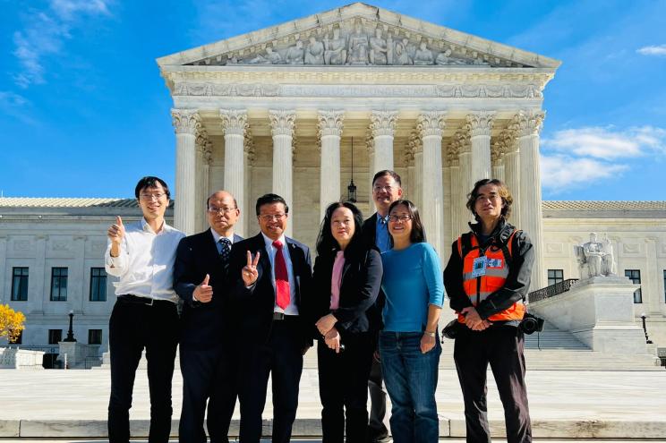
[[[110,276],[120,277],[114,283],[115,294],[132,294],[155,300],[176,302],[174,291],[175,250],[185,236],[166,225],[155,233],[141,221],[125,225],[125,235],[118,257],[111,257],[111,241],[108,241],[104,267]]]

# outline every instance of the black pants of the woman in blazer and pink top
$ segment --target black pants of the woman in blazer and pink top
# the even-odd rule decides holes
[[[345,441],[345,430],[348,443],[366,439],[374,346],[367,332],[349,334],[343,344],[345,350],[336,354],[323,339],[317,343],[323,443]]]

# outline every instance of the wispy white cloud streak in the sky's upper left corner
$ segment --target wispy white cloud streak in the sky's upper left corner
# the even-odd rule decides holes
[[[13,80],[25,89],[44,83],[44,64],[48,57],[62,53],[70,30],[90,16],[108,15],[107,0],[51,0],[48,9],[30,11],[30,24],[13,33],[13,55],[21,70]]]

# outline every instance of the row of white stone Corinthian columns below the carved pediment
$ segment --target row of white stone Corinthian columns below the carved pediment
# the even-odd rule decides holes
[[[197,176],[209,164],[209,139],[201,128],[201,117],[196,110],[172,110],[176,132],[175,226],[187,234],[195,231],[197,218],[204,211],[205,196],[198,195]],[[428,241],[448,260],[448,238],[468,230],[469,213],[465,209],[467,192],[477,180],[497,177],[508,184],[514,203],[511,221],[525,230],[534,243],[542,243],[541,174],[539,170],[539,132],[543,113],[519,111],[500,132],[491,146],[491,130],[495,114],[476,112],[467,115],[465,124],[455,132],[442,158],[442,137],[446,112],[426,111],[418,115],[414,132],[408,142],[407,156],[410,171],[414,171],[412,200],[421,209],[423,226]],[[247,158],[250,153],[247,111],[220,110],[221,127],[225,137],[224,187],[232,192],[239,208],[244,211],[247,183]],[[328,204],[339,200],[340,141],[345,119],[344,110],[321,110],[317,133],[320,140],[320,216]],[[293,208],[293,156],[295,111],[270,110],[269,120],[273,139],[273,192],[285,198]],[[397,124],[397,111],[372,111],[368,147],[371,152],[370,177],[382,169],[393,169],[393,144]],[[201,134],[204,134],[202,136]],[[198,139],[199,138],[199,139]],[[204,146],[197,150],[197,146]],[[208,148],[206,148],[208,147]],[[199,152],[199,153],[198,153]],[[208,152],[208,154],[207,154]],[[446,200],[446,201],[445,201]],[[197,202],[200,203],[197,203]],[[201,204],[201,208],[199,205]],[[445,209],[451,209],[445,214]],[[291,226],[286,234],[291,235]],[[243,228],[239,234],[245,234]],[[450,234],[450,235],[448,235]],[[535,248],[533,287],[543,287],[542,247]]]

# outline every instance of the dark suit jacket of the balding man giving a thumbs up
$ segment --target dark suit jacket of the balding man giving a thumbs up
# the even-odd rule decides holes
[[[234,235],[234,243],[243,237]],[[213,299],[208,303],[195,302],[192,293],[209,274]],[[183,300],[181,344],[200,348],[219,345],[228,328],[226,299],[229,291],[227,276],[218,246],[210,229],[185,237],[175,253],[174,288]]]

